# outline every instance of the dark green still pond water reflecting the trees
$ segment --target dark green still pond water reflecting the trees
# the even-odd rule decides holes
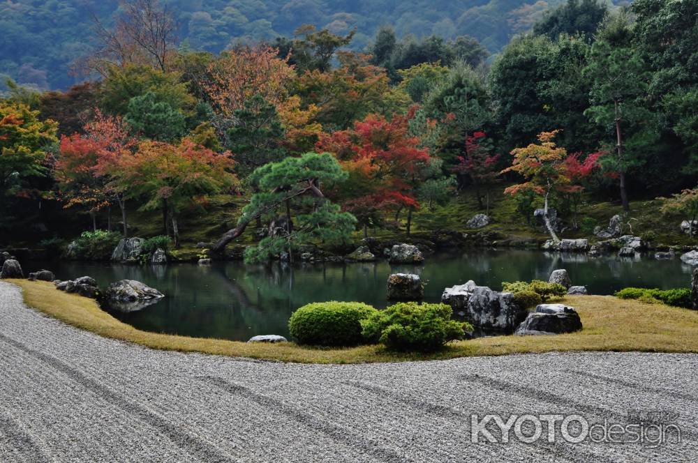
[[[47,268],[61,280],[90,275],[101,287],[125,278],[139,280],[166,297],[138,312],[113,312],[114,317],[146,331],[230,340],[248,340],[260,334],[288,335],[290,314],[306,303],[361,301],[384,308],[390,273],[421,275],[426,282],[425,300],[438,302],[445,287],[467,280],[499,290],[503,281],[547,280],[556,268],[566,268],[573,284],[586,284],[591,294],[612,294],[628,286],[687,287],[691,272],[690,266],[679,259],[588,257],[525,250],[439,254],[427,257],[422,266],[391,265],[386,261],[292,267],[279,262],[246,266],[239,261],[211,266],[26,261],[23,266],[25,273]]]

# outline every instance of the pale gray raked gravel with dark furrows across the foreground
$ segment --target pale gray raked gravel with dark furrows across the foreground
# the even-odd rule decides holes
[[[678,413],[681,443],[470,439],[472,413],[625,424],[630,410]],[[180,354],[66,326],[0,282],[3,463],[696,462],[697,418],[696,355],[298,365]]]

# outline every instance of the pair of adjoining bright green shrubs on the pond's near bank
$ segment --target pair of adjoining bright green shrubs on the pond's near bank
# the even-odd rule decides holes
[[[398,351],[435,351],[473,329],[452,320],[451,314],[445,304],[410,302],[376,310],[364,303],[331,301],[299,308],[288,328],[299,344],[341,347],[380,342]]]

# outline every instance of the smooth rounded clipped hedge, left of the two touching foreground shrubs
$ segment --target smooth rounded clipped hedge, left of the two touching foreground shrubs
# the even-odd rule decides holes
[[[291,315],[288,330],[299,344],[355,346],[363,342],[361,321],[377,312],[360,302],[316,302]]]

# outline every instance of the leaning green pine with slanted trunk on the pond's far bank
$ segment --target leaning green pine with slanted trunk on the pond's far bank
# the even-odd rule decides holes
[[[281,252],[292,255],[300,245],[313,242],[345,241],[356,219],[329,202],[321,188],[331,188],[346,175],[328,153],[306,153],[258,167],[248,179],[258,192],[243,209],[237,227],[221,237],[214,252],[221,252],[257,218],[268,224],[269,232],[257,246],[247,248],[246,261],[265,261]]]

